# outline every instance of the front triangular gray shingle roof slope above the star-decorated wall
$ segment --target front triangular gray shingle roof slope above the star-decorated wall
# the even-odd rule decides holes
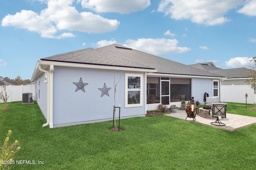
[[[40,60],[56,61],[56,62],[64,62],[64,63],[154,69],[144,64],[140,64],[136,61],[130,61],[129,59],[124,59],[116,55],[104,53],[102,51],[98,51],[92,48],[58,54],[58,55],[46,57]]]

